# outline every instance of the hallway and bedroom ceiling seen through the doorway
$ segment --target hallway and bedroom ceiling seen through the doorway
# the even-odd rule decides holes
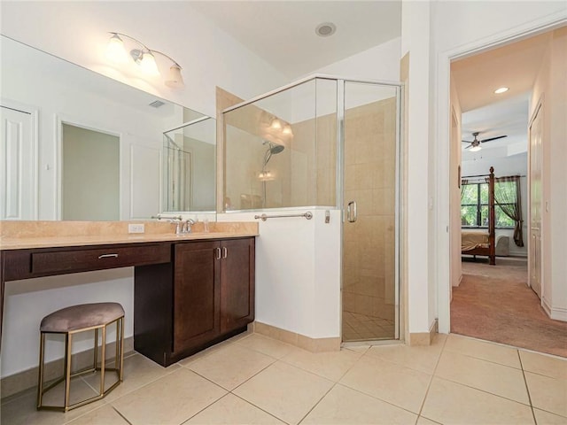
[[[462,108],[462,139],[472,141],[498,135],[508,137],[482,146],[484,158],[507,157],[527,151],[529,102],[548,45],[549,34],[536,35],[498,49],[488,50],[451,64]],[[494,89],[509,87],[501,95]],[[477,154],[465,150],[463,160]]]

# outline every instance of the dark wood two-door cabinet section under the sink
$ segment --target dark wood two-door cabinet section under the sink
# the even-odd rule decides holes
[[[254,320],[254,242],[174,243],[169,267],[136,267],[136,351],[168,366],[244,331]]]

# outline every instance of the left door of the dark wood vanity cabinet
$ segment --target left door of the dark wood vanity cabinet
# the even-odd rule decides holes
[[[219,242],[175,244],[174,352],[220,335]]]

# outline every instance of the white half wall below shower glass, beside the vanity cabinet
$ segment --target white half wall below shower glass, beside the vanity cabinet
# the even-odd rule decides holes
[[[256,239],[256,321],[311,338],[340,330],[341,212],[284,209],[270,214],[313,213],[313,219],[254,220],[250,213],[218,214],[219,221],[259,221]]]

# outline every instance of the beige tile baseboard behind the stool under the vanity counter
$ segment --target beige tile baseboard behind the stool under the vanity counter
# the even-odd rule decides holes
[[[116,343],[106,344],[106,358],[114,359],[114,346]],[[99,348],[100,352],[100,348]],[[130,352],[134,352],[134,336],[124,338],[124,357],[127,357]],[[84,352],[77,352],[73,354],[74,370],[80,370],[92,365],[93,353],[92,350]],[[44,369],[45,381],[49,382],[53,379],[63,375],[63,358],[55,359],[45,363]],[[31,367],[27,370],[19,372],[14,375],[5,376],[0,380],[0,394],[2,398],[7,398],[18,394],[21,391],[29,390],[37,386],[37,377],[39,375],[39,367]]]

